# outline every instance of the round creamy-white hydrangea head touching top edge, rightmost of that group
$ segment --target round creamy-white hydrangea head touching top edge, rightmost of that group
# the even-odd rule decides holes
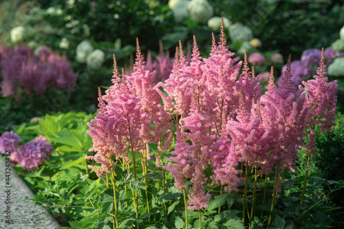
[[[191,0],[188,10],[190,18],[198,23],[206,23],[214,14],[214,9],[207,0]]]

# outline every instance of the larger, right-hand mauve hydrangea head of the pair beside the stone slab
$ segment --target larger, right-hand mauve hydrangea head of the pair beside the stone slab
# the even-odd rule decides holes
[[[44,160],[49,160],[54,151],[52,144],[47,142],[43,136],[23,144],[21,149],[12,153],[11,160],[13,164],[21,164],[26,171],[39,168],[39,164],[44,164]]]

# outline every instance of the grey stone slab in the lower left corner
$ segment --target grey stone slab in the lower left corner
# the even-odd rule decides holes
[[[0,160],[4,157],[0,155]],[[25,200],[34,197],[32,191],[6,160],[0,162],[0,229],[61,228],[50,213],[40,205]]]

